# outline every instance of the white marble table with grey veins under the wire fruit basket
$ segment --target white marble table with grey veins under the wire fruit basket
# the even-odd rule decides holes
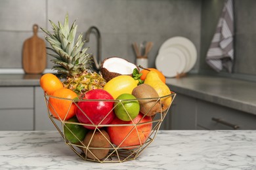
[[[256,131],[159,131],[123,163],[84,161],[57,131],[0,131],[0,169],[256,169]]]

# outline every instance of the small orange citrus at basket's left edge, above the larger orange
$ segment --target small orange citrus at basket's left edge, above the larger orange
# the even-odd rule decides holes
[[[51,73],[41,76],[40,86],[48,95],[52,95],[54,91],[63,88],[63,84],[60,79]]]

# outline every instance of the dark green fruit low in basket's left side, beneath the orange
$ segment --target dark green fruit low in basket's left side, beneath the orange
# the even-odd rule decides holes
[[[73,118],[70,118],[68,122],[78,122],[78,120],[74,116]],[[83,141],[87,131],[88,130],[85,127],[78,124],[64,124],[64,135],[71,143],[79,143],[79,141]]]

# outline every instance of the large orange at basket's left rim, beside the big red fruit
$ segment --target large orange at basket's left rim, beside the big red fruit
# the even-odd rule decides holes
[[[49,97],[48,108],[54,118],[68,120],[75,116],[75,104],[72,102],[72,99],[77,97],[75,92],[68,88],[60,88],[53,92],[52,96],[54,97]]]

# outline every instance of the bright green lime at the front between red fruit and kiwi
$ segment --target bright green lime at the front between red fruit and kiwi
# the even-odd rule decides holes
[[[138,116],[140,112],[140,104],[134,95],[123,93],[116,99],[120,100],[114,104],[114,111],[117,118],[123,121],[131,121]]]

